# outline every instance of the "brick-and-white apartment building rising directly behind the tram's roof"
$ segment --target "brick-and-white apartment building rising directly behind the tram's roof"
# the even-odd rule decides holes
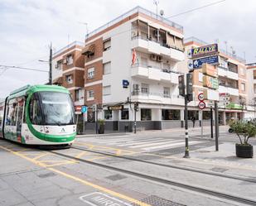
[[[85,43],[74,41],[53,54],[52,79],[69,89],[75,105],[85,103],[85,57],[81,55]]]

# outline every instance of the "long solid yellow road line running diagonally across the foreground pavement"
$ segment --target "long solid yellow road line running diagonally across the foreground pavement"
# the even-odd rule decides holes
[[[46,164],[44,164],[44,163],[41,162],[41,161],[33,160],[33,159],[31,159],[31,158],[29,158],[29,157],[27,157],[27,156],[22,155],[22,153],[17,153],[16,151],[12,151],[12,150],[10,150],[10,149],[4,147],[4,146],[0,146],[0,148],[2,148],[2,149],[5,150],[5,151],[11,152],[13,155],[20,156],[20,157],[22,157],[22,158],[25,159],[25,160],[31,161],[31,162],[34,163],[35,165],[39,165],[39,166],[41,166],[41,167],[46,168],[47,170],[54,171],[54,172],[56,172],[56,173],[59,174],[59,175],[63,175],[63,176],[65,176],[65,177],[67,177],[67,178],[69,178],[69,179],[71,179],[71,180],[76,180],[76,181],[78,181],[78,182],[80,182],[80,183],[82,183],[82,184],[85,184],[85,185],[87,185],[87,186],[93,187],[94,189],[98,189],[98,190],[100,190],[100,191],[103,191],[104,193],[114,195],[115,197],[118,197],[118,198],[120,198],[120,199],[125,199],[125,200],[127,200],[127,201],[129,201],[129,202],[131,202],[131,203],[138,204],[138,205],[140,205],[140,206],[151,206],[150,204],[142,203],[141,201],[139,201],[139,200],[137,200],[137,199],[130,198],[130,197],[128,197],[128,196],[125,195],[125,194],[120,194],[120,193],[115,192],[115,191],[113,191],[113,190],[110,190],[110,189],[104,188],[104,187],[102,187],[102,186],[99,186],[98,184],[93,184],[93,183],[91,183],[91,182],[89,182],[89,181],[82,180],[82,179],[80,179],[80,178],[78,178],[78,177],[76,177],[76,176],[74,176],[74,175],[70,175],[70,174],[67,174],[67,173],[65,173],[65,172],[62,172],[62,171],[60,171],[60,170],[57,170],[57,169],[55,169],[55,168],[48,167]]]

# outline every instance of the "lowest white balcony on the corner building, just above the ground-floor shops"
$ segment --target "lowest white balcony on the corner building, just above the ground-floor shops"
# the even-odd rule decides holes
[[[163,93],[142,93],[140,91],[132,92],[132,101],[140,101],[143,103],[184,105],[184,98],[179,95],[168,95]]]

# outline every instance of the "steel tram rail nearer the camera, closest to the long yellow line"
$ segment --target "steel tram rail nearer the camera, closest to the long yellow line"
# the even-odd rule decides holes
[[[72,146],[72,148],[74,148],[74,147]],[[49,151],[49,152],[51,152],[52,154],[55,154],[56,156],[62,156],[62,157],[68,158],[68,159],[77,160],[79,162],[83,162],[83,163],[86,163],[86,164],[89,164],[89,165],[98,166],[100,168],[104,168],[104,169],[107,169],[107,170],[113,170],[115,172],[120,172],[120,173],[123,173],[123,174],[126,174],[126,175],[132,175],[134,177],[142,178],[143,180],[151,180],[153,182],[167,184],[169,186],[176,186],[176,187],[181,188],[181,189],[192,190],[192,191],[198,192],[200,194],[208,194],[208,195],[216,197],[216,198],[231,200],[231,201],[234,201],[236,203],[256,205],[256,199],[255,200],[254,199],[246,199],[246,198],[234,195],[234,194],[221,193],[221,192],[218,192],[214,189],[208,189],[208,188],[205,188],[205,187],[202,187],[202,186],[197,186],[197,185],[193,185],[193,184],[186,184],[186,183],[175,181],[175,180],[168,180],[166,178],[159,178],[157,176],[148,175],[148,174],[138,172],[138,171],[126,170],[126,169],[124,170],[124,169],[118,168],[116,166],[105,165],[105,164],[102,164],[102,163],[99,163],[99,162],[94,162],[94,161],[91,161],[91,160],[84,160],[84,159],[81,159],[81,158],[77,158],[75,156],[69,156],[69,155],[59,153],[59,152],[56,152],[56,151]],[[96,153],[96,152],[94,152],[94,153]],[[236,180],[239,180],[239,179],[236,179]]]

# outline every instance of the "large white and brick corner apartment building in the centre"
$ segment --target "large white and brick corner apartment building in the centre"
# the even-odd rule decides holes
[[[106,129],[131,131],[134,102],[138,129],[181,127],[184,99],[176,65],[184,60],[182,26],[135,7],[90,32],[82,54],[85,104],[100,105],[97,116],[106,120]],[[88,118],[95,113],[89,110]]]

